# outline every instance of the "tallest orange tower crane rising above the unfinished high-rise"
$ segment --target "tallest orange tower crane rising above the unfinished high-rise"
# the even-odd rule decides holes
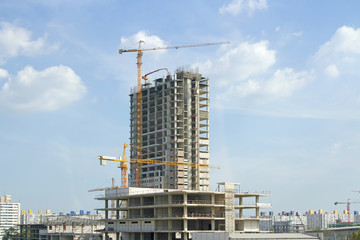
[[[202,47],[210,45],[228,44],[229,42],[217,42],[217,43],[202,43],[194,45],[180,45],[180,46],[169,46],[169,47],[154,47],[154,48],[142,48],[141,44],[144,44],[143,40],[138,42],[139,46],[137,49],[119,49],[119,54],[136,52],[137,53],[137,160],[134,162],[137,164],[136,167],[136,186],[141,185],[141,67],[142,67],[142,56],[145,51],[155,51],[164,49],[178,49],[188,47]]]

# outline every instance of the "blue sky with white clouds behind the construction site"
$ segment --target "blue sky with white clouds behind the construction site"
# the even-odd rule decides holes
[[[143,73],[211,81],[211,187],[271,191],[273,211],[360,199],[358,1],[0,1],[0,193],[24,209],[93,210],[120,181],[136,56]],[[164,73],[154,74],[153,78]],[[114,152],[117,150],[117,152]],[[359,205],[352,205],[358,210]]]

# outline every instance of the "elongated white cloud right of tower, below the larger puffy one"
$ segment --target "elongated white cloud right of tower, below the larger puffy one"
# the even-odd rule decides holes
[[[236,102],[240,98],[252,97],[256,102],[269,102],[291,96],[312,79],[312,72],[295,72],[292,68],[276,70],[269,79],[250,79],[232,85],[217,100],[221,104]]]

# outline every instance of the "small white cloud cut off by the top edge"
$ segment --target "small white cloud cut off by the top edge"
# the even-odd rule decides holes
[[[233,15],[247,11],[252,14],[256,10],[267,9],[267,0],[233,0],[231,3],[221,7],[221,14],[230,13]]]

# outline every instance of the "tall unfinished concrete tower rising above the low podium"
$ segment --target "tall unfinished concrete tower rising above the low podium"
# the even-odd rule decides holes
[[[209,164],[209,79],[177,70],[174,79],[142,85],[141,101],[143,158]],[[137,146],[137,89],[130,103],[130,142]],[[129,186],[136,186],[136,167],[130,165]],[[142,164],[141,187],[209,190],[209,169]]]

